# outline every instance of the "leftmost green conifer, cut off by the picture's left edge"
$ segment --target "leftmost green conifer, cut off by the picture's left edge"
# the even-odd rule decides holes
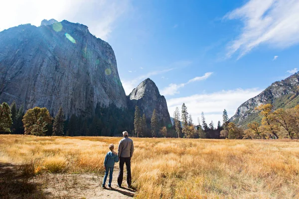
[[[10,132],[11,110],[6,102],[0,104],[0,132]]]

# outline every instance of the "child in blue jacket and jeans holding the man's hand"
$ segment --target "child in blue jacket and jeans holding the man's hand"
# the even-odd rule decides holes
[[[105,161],[104,161],[104,167],[105,167],[105,176],[104,176],[104,181],[102,184],[102,188],[106,188],[106,180],[108,177],[108,172],[110,170],[110,175],[109,175],[109,183],[108,183],[108,188],[111,188],[111,182],[112,182],[112,175],[113,175],[113,169],[114,169],[114,163],[119,161],[118,155],[114,149],[114,145],[110,144],[109,145],[110,151],[106,154]]]

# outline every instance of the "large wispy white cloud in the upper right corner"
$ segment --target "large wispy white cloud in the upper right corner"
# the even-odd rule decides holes
[[[239,19],[244,27],[228,45],[227,57],[244,56],[260,44],[286,48],[299,43],[299,0],[249,0],[224,16]]]

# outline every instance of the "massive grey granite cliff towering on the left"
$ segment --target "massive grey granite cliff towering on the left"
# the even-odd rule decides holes
[[[97,102],[127,107],[111,46],[66,20],[0,32],[0,102],[88,116]],[[55,21],[54,21],[55,22]]]

